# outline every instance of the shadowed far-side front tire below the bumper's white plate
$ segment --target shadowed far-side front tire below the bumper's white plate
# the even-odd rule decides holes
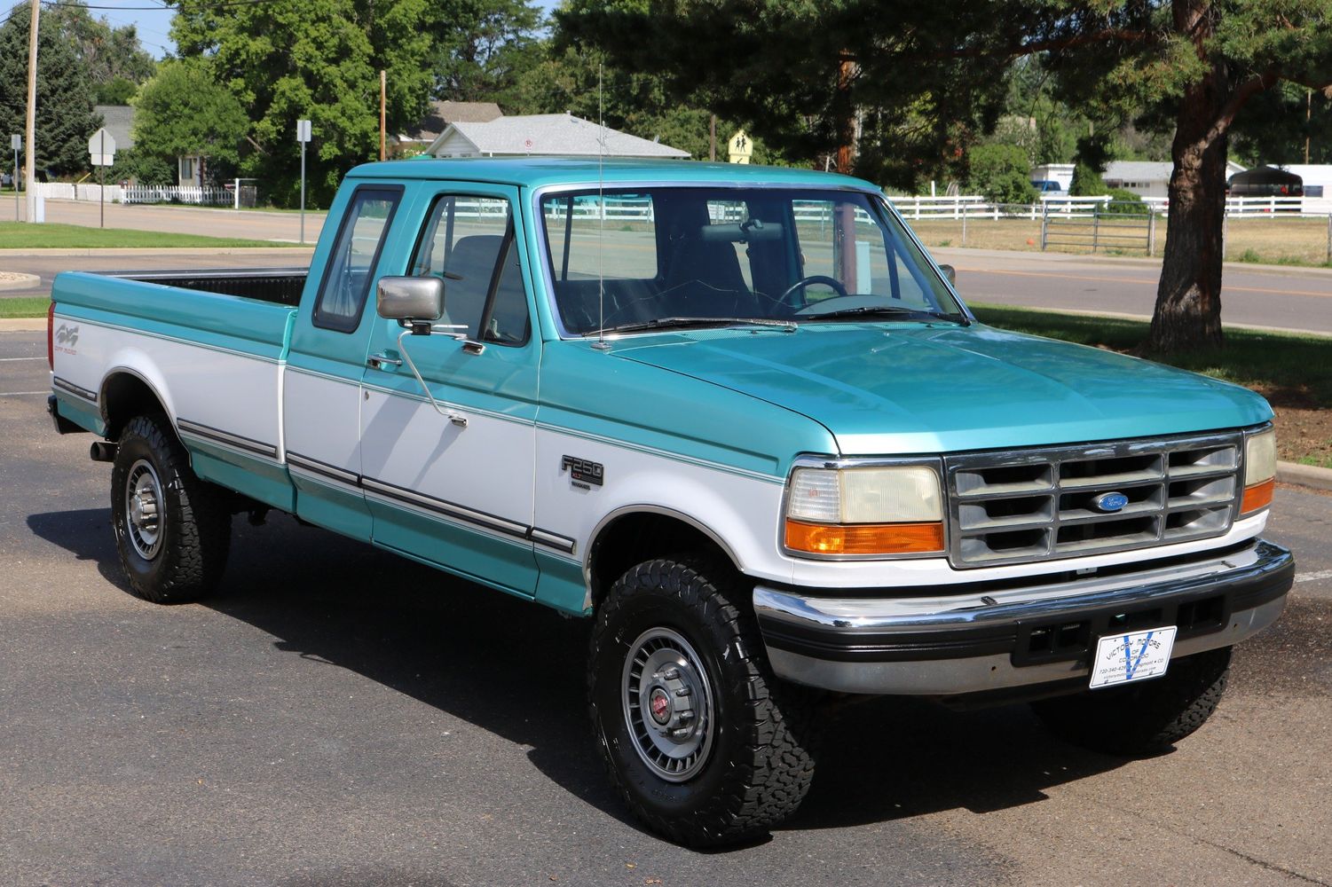
[[[1140,756],[1201,727],[1225,693],[1231,647],[1175,659],[1160,678],[1032,702],[1046,727],[1076,746]]]

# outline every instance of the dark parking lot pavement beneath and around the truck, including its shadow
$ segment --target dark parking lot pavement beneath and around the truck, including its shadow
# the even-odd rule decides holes
[[[1332,884],[1329,497],[1277,491],[1303,579],[1175,752],[856,705],[795,819],[699,854],[606,787],[582,622],[281,515],[214,602],[132,597],[44,349],[0,334],[0,883]]]

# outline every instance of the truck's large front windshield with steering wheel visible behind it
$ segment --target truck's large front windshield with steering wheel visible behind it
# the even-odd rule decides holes
[[[964,320],[871,194],[663,186],[601,197],[593,189],[547,194],[541,210],[555,304],[573,334],[755,320]]]

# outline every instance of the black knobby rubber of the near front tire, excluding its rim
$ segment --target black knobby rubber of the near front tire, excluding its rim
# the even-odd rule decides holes
[[[587,670],[589,713],[611,783],[643,824],[687,846],[727,844],[766,834],[795,812],[814,779],[817,694],[773,675],[757,619],[731,602],[742,593],[730,565],[687,554],[647,561],[615,582],[591,633],[589,663],[595,663],[599,651],[613,643],[611,626],[622,607],[631,606],[635,595],[669,594],[679,606],[695,610],[705,625],[715,626],[714,638],[742,651],[723,675],[730,687],[714,693],[743,693],[749,699],[743,713],[747,737],[741,743],[745,754],[737,755],[710,803],[687,818],[659,815],[623,784],[598,726],[594,665]],[[622,715],[617,710],[609,717]]]

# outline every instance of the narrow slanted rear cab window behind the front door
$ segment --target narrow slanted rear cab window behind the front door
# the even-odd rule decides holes
[[[350,333],[361,324],[370,278],[402,189],[358,188],[342,216],[314,302],[314,325]]]

